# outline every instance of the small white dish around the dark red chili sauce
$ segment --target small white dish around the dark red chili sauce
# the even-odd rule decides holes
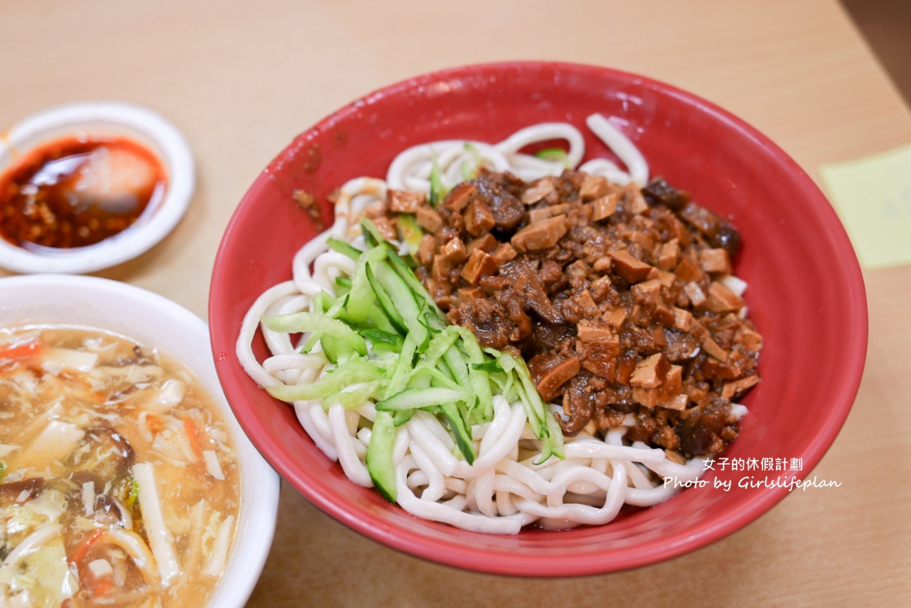
[[[27,117],[0,137],[0,174],[36,147],[63,137],[93,135],[127,137],[148,147],[168,177],[164,198],[146,208],[129,228],[87,247],[44,253],[0,238],[0,266],[20,273],[94,272],[136,258],[177,226],[196,184],[193,156],[177,127],[146,107],[119,101],[80,102]]]

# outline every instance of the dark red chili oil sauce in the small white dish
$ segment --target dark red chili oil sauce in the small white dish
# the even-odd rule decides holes
[[[110,238],[164,198],[159,159],[125,137],[68,137],[0,177],[0,236],[33,251]]]

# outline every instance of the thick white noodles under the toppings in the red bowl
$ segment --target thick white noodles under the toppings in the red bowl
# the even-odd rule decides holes
[[[589,160],[580,168],[620,184],[644,185],[649,167],[630,139],[599,115],[589,117],[588,125],[626,170],[607,159]],[[299,352],[306,336],[292,344],[287,334],[260,327],[260,319],[309,310],[315,294],[321,290],[333,293],[337,277],[353,274],[352,260],[328,250],[326,242],[337,237],[362,244],[357,218],[367,205],[383,200],[388,187],[426,192],[434,166],[444,186],[453,187],[463,179],[466,163],[509,170],[526,180],[557,176],[565,168],[562,162],[519,152],[555,139],[567,143],[568,160],[577,167],[585,154],[584,138],[576,127],[548,123],[521,129],[496,144],[451,140],[411,147],[394,159],[385,181],[359,177],[344,184],[336,200],[333,225],[295,255],[292,280],[268,289],[245,316],[237,343],[243,369],[263,387],[312,382],[331,370],[318,348],[308,354]],[[262,363],[251,348],[257,329],[262,330],[271,351]],[[354,410],[343,410],[339,404],[326,408],[320,400],[312,400],[297,401],[293,406],[316,446],[339,461],[354,483],[371,486],[364,459],[374,404],[367,401]],[[745,409],[738,407],[742,415]],[[567,438],[565,459],[551,457],[536,464],[539,447],[525,408],[496,396],[493,420],[471,430],[477,457],[468,464],[458,455],[443,423],[418,410],[395,430],[397,502],[406,512],[435,522],[476,532],[515,534],[533,522],[550,528],[603,524],[616,517],[624,504],[662,502],[683,482],[695,480],[705,471],[706,462],[701,459],[681,465],[668,460],[662,450],[630,445],[623,433],[631,424],[632,417],[627,416],[623,426],[610,430],[604,439],[585,433]],[[678,483],[665,483],[662,478]]]

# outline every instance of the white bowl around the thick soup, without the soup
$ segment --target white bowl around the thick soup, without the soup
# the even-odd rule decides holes
[[[109,329],[169,353],[210,390],[241,454],[241,511],[212,608],[241,608],[262,570],[275,530],[280,478],[253,447],[221,392],[206,323],[145,289],[96,277],[33,275],[0,279],[0,327],[56,322]]]

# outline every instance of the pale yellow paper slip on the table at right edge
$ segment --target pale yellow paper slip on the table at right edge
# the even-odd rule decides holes
[[[911,263],[911,145],[819,168],[861,263]]]

